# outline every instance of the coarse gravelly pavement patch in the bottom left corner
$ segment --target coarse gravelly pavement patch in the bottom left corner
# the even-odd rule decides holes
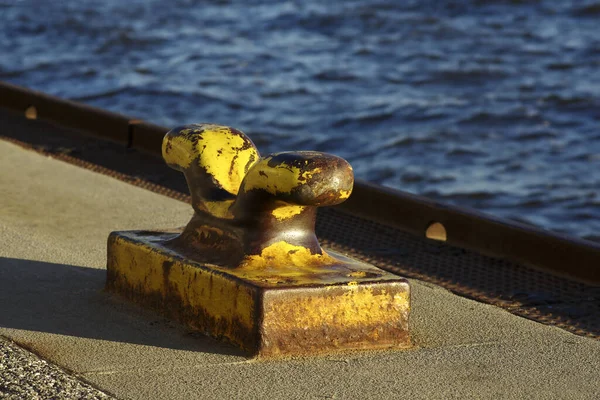
[[[0,399],[113,399],[0,338]]]

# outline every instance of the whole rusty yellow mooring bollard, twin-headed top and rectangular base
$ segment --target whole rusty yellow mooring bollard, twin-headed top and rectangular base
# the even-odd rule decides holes
[[[184,229],[113,232],[106,288],[259,357],[410,345],[406,279],[325,251],[316,210],[350,196],[342,158],[261,157],[241,131],[167,133],[194,215]]]

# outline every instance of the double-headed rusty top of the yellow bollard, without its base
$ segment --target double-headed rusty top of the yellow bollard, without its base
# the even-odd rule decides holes
[[[177,246],[190,253],[209,246],[212,257],[230,266],[265,250],[322,256],[316,208],[343,202],[354,184],[352,167],[340,157],[313,151],[261,157],[243,132],[226,126],[175,128],[162,152],[185,175],[195,211]]]

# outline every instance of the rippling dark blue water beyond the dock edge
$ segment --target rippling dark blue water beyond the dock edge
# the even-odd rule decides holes
[[[0,79],[600,240],[597,0],[0,0]]]

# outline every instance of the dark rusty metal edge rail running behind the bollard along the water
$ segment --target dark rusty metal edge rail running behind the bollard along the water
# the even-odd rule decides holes
[[[0,107],[160,155],[168,128],[0,82]],[[600,244],[450,206],[357,180],[339,210],[425,236],[443,225],[446,242],[588,283],[600,283]]]

